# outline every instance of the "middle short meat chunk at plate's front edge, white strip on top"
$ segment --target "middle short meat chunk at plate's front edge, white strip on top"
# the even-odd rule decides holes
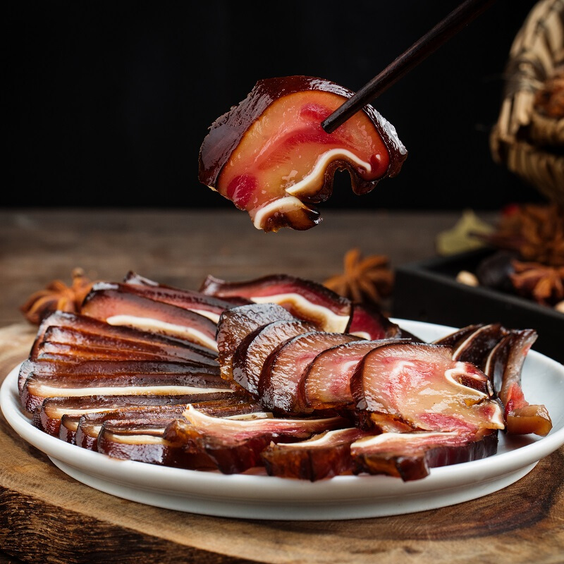
[[[351,472],[350,445],[363,436],[360,429],[325,431],[298,443],[271,443],[261,458],[271,476],[315,482]]]

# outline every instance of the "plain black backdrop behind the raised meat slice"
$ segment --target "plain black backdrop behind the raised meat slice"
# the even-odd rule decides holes
[[[454,0],[18,2],[5,116],[10,206],[231,207],[197,180],[208,126],[259,78],[352,90]],[[498,209],[537,192],[494,164],[503,69],[534,1],[498,0],[374,106],[410,152],[400,176],[324,207]],[[5,34],[5,35],[6,35]]]

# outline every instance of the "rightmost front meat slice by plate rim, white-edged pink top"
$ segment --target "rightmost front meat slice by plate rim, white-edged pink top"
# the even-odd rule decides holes
[[[388,474],[404,482],[422,479],[429,468],[470,462],[496,453],[497,431],[382,433],[350,446],[355,473]]]

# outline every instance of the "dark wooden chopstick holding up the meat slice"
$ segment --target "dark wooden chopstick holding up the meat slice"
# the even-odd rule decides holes
[[[388,90],[406,75],[412,68],[415,68],[421,61],[439,49],[450,37],[456,35],[462,27],[468,25],[474,18],[494,4],[496,0],[465,0],[458,8],[441,20],[431,31],[427,32],[421,39],[398,56],[390,63],[384,71],[381,71],[370,82],[367,82],[356,94],[339,106],[333,114],[321,122],[321,127],[326,133],[333,133],[339,125],[353,117],[366,104],[374,98],[379,97],[382,92]]]

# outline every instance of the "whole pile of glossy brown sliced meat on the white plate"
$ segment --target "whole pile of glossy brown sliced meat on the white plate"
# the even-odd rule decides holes
[[[423,343],[292,276],[180,290],[130,273],[44,317],[18,386],[36,427],[115,458],[322,479],[419,479],[545,435],[522,364],[536,334],[469,326]]]

